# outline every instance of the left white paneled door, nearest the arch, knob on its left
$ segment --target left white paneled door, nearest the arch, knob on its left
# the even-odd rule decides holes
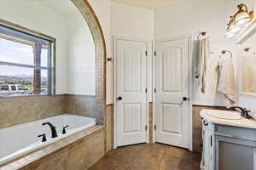
[[[116,146],[146,142],[147,42],[116,39]]]

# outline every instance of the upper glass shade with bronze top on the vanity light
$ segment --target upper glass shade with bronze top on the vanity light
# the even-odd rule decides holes
[[[234,26],[244,26],[253,20],[253,11],[248,11],[245,4],[241,3],[237,6],[238,12],[234,15]]]

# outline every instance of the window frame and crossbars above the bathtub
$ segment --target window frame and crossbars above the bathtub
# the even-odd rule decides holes
[[[20,98],[20,97],[21,98],[22,97],[34,97],[34,96],[45,96],[45,95],[54,96],[55,95],[55,43],[56,43],[55,37],[49,37],[49,36],[47,36],[43,33],[40,33],[38,31],[30,30],[26,27],[16,25],[16,24],[11,23],[11,22],[6,21],[6,20],[0,20],[0,27],[2,27],[3,30],[6,29],[8,31],[14,32],[15,35],[19,35],[17,37],[17,39],[15,38],[15,40],[10,40],[9,38],[5,38],[5,39],[8,39],[10,41],[19,42],[17,40],[20,37],[25,37],[25,38],[20,38],[21,43],[25,43],[25,44],[28,44],[28,43],[31,43],[31,42],[36,43],[36,41],[38,41],[40,43],[43,42],[41,44],[41,48],[44,48],[44,45],[49,45],[48,46],[49,48],[48,48],[48,63],[47,63],[47,66],[38,65],[35,62],[34,62],[33,65],[26,65],[26,64],[0,61],[0,65],[19,66],[19,67],[23,67],[23,68],[33,68],[34,71],[36,69],[38,69],[40,71],[48,71],[48,94],[7,96],[7,97],[0,97],[0,99]],[[0,31],[0,33],[1,33],[1,31]],[[25,42],[25,41],[27,41],[27,42]],[[45,44],[44,44],[44,42],[45,42]],[[34,44],[29,44],[29,45],[34,45]],[[36,47],[33,47],[33,48],[35,50]],[[34,78],[35,78],[35,75],[34,75]]]

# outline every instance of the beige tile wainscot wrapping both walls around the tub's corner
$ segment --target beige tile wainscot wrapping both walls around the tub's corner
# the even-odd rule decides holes
[[[49,116],[70,113],[96,117],[102,122],[104,116],[96,112],[96,98],[81,95],[30,96],[0,100],[0,128],[37,121]]]

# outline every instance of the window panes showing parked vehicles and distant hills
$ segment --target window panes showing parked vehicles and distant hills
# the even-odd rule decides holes
[[[51,42],[0,25],[0,97],[51,94]]]

